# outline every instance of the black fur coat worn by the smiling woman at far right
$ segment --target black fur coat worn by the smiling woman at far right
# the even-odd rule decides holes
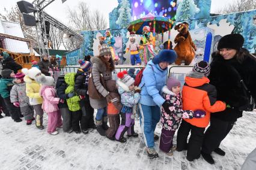
[[[241,86],[239,75],[233,68],[239,72],[240,77],[256,99],[256,59],[252,56],[245,56],[243,62],[239,63],[234,58],[224,60],[220,54],[212,57],[210,84],[216,87],[217,99],[231,106],[224,111],[213,113],[212,116],[224,121],[236,121],[237,118],[242,117],[242,111],[238,108],[245,104],[247,95]]]

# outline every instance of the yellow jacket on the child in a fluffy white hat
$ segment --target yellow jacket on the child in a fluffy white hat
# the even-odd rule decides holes
[[[29,103],[31,105],[42,104],[43,98],[39,95],[40,84],[29,78],[28,75],[25,75],[24,81],[26,83],[26,95],[29,98]]]

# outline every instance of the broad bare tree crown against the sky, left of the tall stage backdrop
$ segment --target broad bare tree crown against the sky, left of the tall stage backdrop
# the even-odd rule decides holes
[[[106,19],[99,10],[91,13],[85,2],[79,2],[78,8],[68,10],[70,26],[77,31],[91,31],[94,29],[106,29]]]

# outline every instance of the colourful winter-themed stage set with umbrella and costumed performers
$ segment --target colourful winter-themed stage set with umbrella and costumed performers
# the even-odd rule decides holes
[[[256,53],[256,10],[210,16],[210,5],[210,0],[118,0],[109,13],[109,29],[82,31],[85,41],[66,54],[67,65],[77,65],[88,54],[97,56],[100,43],[111,47],[116,64],[145,65],[162,48],[172,48],[186,56],[176,64],[192,65],[210,61],[219,39],[231,33],[243,35],[243,47]],[[189,54],[181,53],[183,45]]]

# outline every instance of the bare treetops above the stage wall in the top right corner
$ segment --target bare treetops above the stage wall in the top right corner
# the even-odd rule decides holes
[[[254,10],[256,8],[255,0],[236,0],[226,5],[225,7],[216,10],[216,14],[230,14],[240,11]]]

